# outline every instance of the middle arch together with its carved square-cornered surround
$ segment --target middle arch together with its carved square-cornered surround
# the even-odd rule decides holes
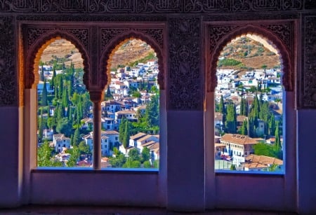
[[[101,57],[100,57],[100,87],[105,88],[110,76],[110,58],[114,50],[126,41],[126,39],[140,39],[149,44],[158,58],[158,84],[159,89],[164,90],[164,28],[163,27],[104,27],[100,29],[100,41],[101,41]]]

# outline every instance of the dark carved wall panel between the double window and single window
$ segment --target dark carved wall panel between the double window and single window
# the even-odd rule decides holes
[[[199,18],[169,20],[168,108],[202,110],[201,23]]]

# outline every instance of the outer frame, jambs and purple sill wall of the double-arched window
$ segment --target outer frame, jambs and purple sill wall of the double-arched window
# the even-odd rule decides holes
[[[19,22],[19,35],[22,35],[23,28],[28,23]],[[32,23],[32,25],[34,25]],[[46,25],[45,22],[38,22],[35,25]],[[47,26],[54,27],[48,23]],[[78,23],[65,24],[74,26]],[[166,34],[164,22],[157,23],[81,23],[86,27],[159,27],[163,28]],[[131,31],[133,32],[133,31]],[[137,35],[137,32],[133,32]],[[164,40],[165,40],[164,36]],[[142,39],[147,42],[146,40]],[[27,54],[27,50],[21,48],[23,41],[19,41],[20,50]],[[166,41],[161,55],[166,56]],[[76,47],[77,48],[77,47]],[[101,58],[101,56],[99,56]],[[162,56],[160,56],[162,57]],[[26,64],[22,57],[20,61]],[[165,61],[162,65],[162,72],[166,70]],[[26,71],[24,71],[26,73]],[[164,76],[162,74],[162,76]],[[23,120],[20,126],[24,131],[23,139],[23,184],[21,188],[25,204],[88,204],[88,205],[128,205],[128,206],[151,206],[163,207],[166,195],[166,139],[159,141],[160,160],[159,169],[100,169],[90,167],[83,168],[55,168],[37,167],[37,84],[32,88],[23,89],[24,110],[20,114]],[[159,97],[159,124],[160,135],[166,135],[166,90],[162,87]],[[127,181],[128,183],[127,183]],[[74,181],[81,181],[76,183]],[[140,183],[141,181],[141,183]],[[86,183],[85,183],[86,182]],[[107,184],[107,186],[105,186]],[[64,192],[62,190],[67,190]],[[124,190],[122,193],[121,190]],[[140,190],[142,192],[140,192]],[[62,192],[62,193],[60,193]],[[140,195],[140,193],[142,193]],[[45,196],[45,197],[43,197]]]

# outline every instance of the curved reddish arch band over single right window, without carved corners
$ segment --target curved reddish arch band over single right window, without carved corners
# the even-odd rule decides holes
[[[244,27],[232,27],[222,28],[223,32],[219,34],[222,35],[221,38],[218,38],[218,41],[210,41],[209,49],[209,72],[206,74],[206,85],[207,91],[213,92],[217,86],[217,77],[216,69],[217,62],[220,53],[223,48],[230,43],[233,39],[236,39],[239,36],[246,34],[255,34],[260,36],[265,41],[268,41],[275,49],[277,49],[279,60],[282,68],[282,85],[284,86],[285,91],[293,91],[293,77],[294,77],[294,68],[291,64],[291,54],[289,53],[289,48],[284,44],[284,42],[279,39],[273,32],[270,32],[268,29],[265,29],[260,26],[246,25]],[[209,35],[211,37],[211,35]],[[215,43],[216,42],[216,43]],[[215,43],[215,44],[211,44]]]

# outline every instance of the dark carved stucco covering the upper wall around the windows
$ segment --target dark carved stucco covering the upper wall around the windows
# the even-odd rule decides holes
[[[298,63],[303,68],[303,74],[298,78],[299,106],[302,108],[316,108],[315,102],[315,18],[316,3],[312,0],[0,0],[0,106],[15,106],[18,104],[18,69],[17,45],[18,37],[16,29],[20,23],[32,22],[59,22],[59,23],[89,23],[96,22],[144,22],[144,23],[167,23],[169,33],[167,38],[152,36],[159,35],[159,32],[144,30],[142,34],[149,34],[155,43],[168,48],[168,61],[166,64],[166,76],[160,80],[166,85],[168,96],[168,108],[175,110],[202,110],[204,98],[204,22],[213,21],[234,21],[234,20],[298,20],[303,17],[302,45],[303,63]],[[308,14],[304,18],[304,14]],[[304,20],[305,19],[305,20]],[[55,30],[56,30],[55,26]],[[287,26],[275,25],[261,26],[265,31],[273,32],[279,41],[284,44],[289,53],[289,59],[294,59],[294,49],[291,38],[293,29]],[[49,29],[48,29],[49,30]],[[77,35],[84,50],[91,49],[89,46],[103,46],[107,41],[92,43],[85,39],[86,32],[76,27],[67,27],[62,31],[69,35]],[[140,29],[135,29],[135,31]],[[230,29],[228,32],[230,32]],[[147,32],[146,32],[147,31]],[[148,32],[151,31],[151,32]],[[214,36],[225,35],[225,27],[216,29]],[[226,31],[227,32],[227,31]],[[98,34],[100,32],[97,32]],[[111,32],[107,34],[107,39]],[[288,34],[289,33],[289,34]],[[90,33],[91,34],[91,33]],[[216,35],[215,35],[216,34]],[[39,32],[29,32],[29,41],[37,40],[36,36],[42,36]],[[110,35],[111,37],[111,35]],[[216,41],[216,39],[212,39]],[[164,41],[167,44],[164,44]],[[25,42],[25,41],[24,41]],[[216,43],[213,43],[216,46]],[[32,45],[33,46],[33,45]],[[101,52],[102,50],[98,50]],[[99,53],[100,55],[100,53]],[[29,55],[25,54],[24,57]],[[91,57],[88,53],[88,57]],[[296,67],[296,64],[290,66]],[[26,67],[25,69],[29,69]],[[97,72],[96,79],[89,79],[88,83],[100,81],[100,65],[88,65],[88,69]],[[95,71],[96,70],[96,71]],[[288,89],[293,89],[295,76],[290,78]],[[31,77],[31,76],[30,76]],[[32,77],[31,77],[32,79]],[[30,80],[32,82],[32,80]],[[105,83],[106,80],[103,80]],[[27,83],[27,82],[26,82]],[[26,87],[28,87],[26,85]],[[314,91],[313,91],[314,90]]]

